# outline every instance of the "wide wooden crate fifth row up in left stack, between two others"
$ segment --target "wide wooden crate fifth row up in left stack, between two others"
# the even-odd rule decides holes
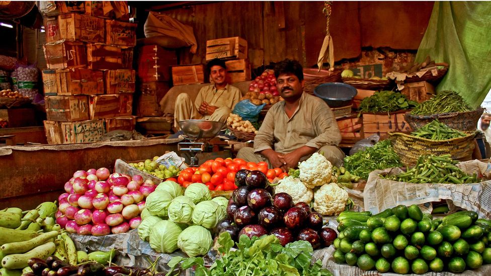
[[[104,43],[104,19],[81,14],[58,16],[61,39]]]

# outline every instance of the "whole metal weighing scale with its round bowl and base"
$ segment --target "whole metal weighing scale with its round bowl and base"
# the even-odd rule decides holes
[[[189,142],[178,143],[177,147],[180,151],[191,153],[190,166],[198,165],[196,155],[207,151],[209,147],[208,141],[216,137],[225,125],[224,122],[206,120],[183,120],[178,123],[184,132],[185,139],[189,140]]]

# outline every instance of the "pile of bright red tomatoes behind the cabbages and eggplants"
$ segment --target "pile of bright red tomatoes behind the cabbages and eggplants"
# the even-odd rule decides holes
[[[278,177],[283,179],[288,173],[281,168],[268,169],[266,162],[247,162],[240,158],[216,158],[207,160],[199,167],[189,167],[179,173],[177,179],[168,178],[178,182],[183,187],[191,183],[204,183],[211,191],[232,191],[235,186],[235,172],[239,169],[260,170],[266,174],[270,182]]]

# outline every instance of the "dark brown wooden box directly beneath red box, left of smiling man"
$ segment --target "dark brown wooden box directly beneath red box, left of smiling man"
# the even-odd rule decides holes
[[[140,83],[136,114],[138,117],[162,116],[160,100],[166,96],[170,86],[166,81]]]

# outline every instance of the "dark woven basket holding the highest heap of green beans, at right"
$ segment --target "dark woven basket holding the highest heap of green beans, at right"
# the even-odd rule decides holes
[[[413,130],[419,129],[426,124],[431,123],[433,120],[438,119],[438,121],[450,128],[460,131],[473,131],[476,129],[477,121],[479,121],[483,112],[483,108],[478,108],[467,112],[450,112],[423,116],[406,113],[404,118]]]

